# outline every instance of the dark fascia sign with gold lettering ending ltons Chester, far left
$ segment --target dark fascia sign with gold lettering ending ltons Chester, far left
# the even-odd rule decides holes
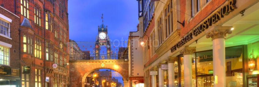
[[[19,69],[12,69],[5,66],[0,66],[0,75],[17,76],[19,77]]]

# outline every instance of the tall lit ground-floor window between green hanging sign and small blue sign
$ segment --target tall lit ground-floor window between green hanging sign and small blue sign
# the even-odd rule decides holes
[[[35,69],[35,87],[42,87],[41,85],[41,70]]]

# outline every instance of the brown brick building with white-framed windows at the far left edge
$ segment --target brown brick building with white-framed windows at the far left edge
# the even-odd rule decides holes
[[[19,17],[0,6],[1,85],[20,85]]]

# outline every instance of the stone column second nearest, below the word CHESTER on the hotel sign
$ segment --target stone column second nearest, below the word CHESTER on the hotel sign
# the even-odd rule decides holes
[[[183,54],[184,87],[192,87],[192,54],[196,47],[185,47],[180,51]]]

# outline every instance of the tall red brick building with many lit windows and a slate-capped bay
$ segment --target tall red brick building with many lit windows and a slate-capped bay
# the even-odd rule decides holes
[[[66,87],[67,0],[0,0],[0,5],[20,17],[16,35],[20,35],[21,87]]]

